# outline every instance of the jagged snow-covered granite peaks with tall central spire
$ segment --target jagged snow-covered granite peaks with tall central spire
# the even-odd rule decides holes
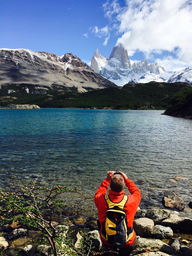
[[[150,81],[167,82],[172,74],[169,74],[158,63],[142,60],[131,65],[128,52],[122,44],[114,47],[109,59],[99,54],[98,49],[91,59],[91,68],[116,85],[123,86],[130,80],[138,83]]]

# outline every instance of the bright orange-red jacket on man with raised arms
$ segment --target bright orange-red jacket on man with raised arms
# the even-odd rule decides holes
[[[98,188],[98,190],[95,193],[95,205],[97,206],[97,209],[98,209],[101,230],[105,225],[106,211],[108,210],[108,205],[105,201],[104,195],[107,193],[109,184],[110,184],[110,180],[105,179],[101,183],[100,187]],[[141,201],[141,194],[140,194],[139,189],[134,184],[134,182],[131,181],[130,179],[125,180],[125,185],[126,185],[126,187],[128,187],[128,190],[131,195],[128,195],[128,201],[125,204],[124,210],[126,211],[126,215],[127,215],[128,227],[133,228],[134,216],[135,216],[135,213],[137,212],[137,207],[139,206],[140,201]],[[125,194],[124,191],[116,192],[113,190],[109,190],[110,200],[114,203],[119,203],[123,199],[124,194]],[[111,247],[111,245],[108,244],[102,238],[101,230],[100,230],[101,241],[104,244],[106,244],[107,246]],[[123,245],[122,248],[130,246],[134,242],[134,239],[135,239],[135,231],[134,231],[134,235],[132,236],[132,238],[125,245]]]

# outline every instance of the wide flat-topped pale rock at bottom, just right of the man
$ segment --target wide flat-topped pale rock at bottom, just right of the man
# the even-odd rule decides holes
[[[139,246],[132,251],[131,255],[145,253],[146,250],[152,252],[161,251],[167,254],[178,255],[176,251],[161,240],[146,238],[139,238]]]

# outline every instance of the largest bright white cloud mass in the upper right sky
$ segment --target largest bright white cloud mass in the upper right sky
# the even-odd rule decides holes
[[[192,66],[191,7],[192,0],[127,0],[124,8],[117,1],[103,5],[106,17],[116,14],[113,28],[123,34],[117,44],[122,43],[130,56],[141,51],[152,59],[155,53],[170,52],[157,60],[166,70]]]

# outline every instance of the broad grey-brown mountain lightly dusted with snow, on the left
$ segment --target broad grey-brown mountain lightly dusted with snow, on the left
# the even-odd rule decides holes
[[[0,94],[46,94],[73,89],[79,92],[116,86],[72,53],[28,49],[0,49]]]

